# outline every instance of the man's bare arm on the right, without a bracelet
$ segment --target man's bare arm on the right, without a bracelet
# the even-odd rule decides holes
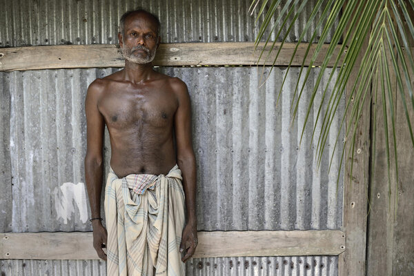
[[[183,172],[183,187],[186,194],[187,224],[184,227],[181,239],[180,251],[185,251],[182,261],[190,258],[197,246],[197,215],[195,210],[195,155],[191,135],[191,106],[190,96],[186,83],[174,79],[172,88],[175,90],[178,100],[177,112],[175,112],[174,127],[177,141],[177,164]]]

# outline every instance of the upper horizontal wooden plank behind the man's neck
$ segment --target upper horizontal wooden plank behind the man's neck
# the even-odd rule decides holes
[[[293,55],[295,43],[284,43],[276,66],[288,66]],[[262,59],[259,65],[271,65],[279,49],[275,50],[268,59]],[[293,59],[293,66],[301,66],[308,43],[302,43]],[[316,44],[311,47],[306,64],[309,64]],[[159,46],[153,61],[154,66],[255,66],[259,54],[264,48],[261,44],[257,50],[252,42],[234,43],[164,43]],[[268,47],[266,47],[267,49]],[[314,66],[322,65],[328,49],[324,45],[322,52],[316,59]],[[337,46],[334,57],[340,50]],[[264,52],[264,57],[268,50]],[[96,67],[124,67],[124,59],[117,47],[112,44],[93,45],[59,45],[35,46],[20,48],[0,48],[0,71],[11,70],[38,70],[58,68],[96,68]],[[333,66],[333,63],[328,66]]]

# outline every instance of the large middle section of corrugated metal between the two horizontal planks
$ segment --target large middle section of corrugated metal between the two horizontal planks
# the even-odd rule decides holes
[[[6,213],[13,214],[12,221],[10,228],[3,231],[90,230],[90,224],[86,224],[88,207],[83,186],[86,152],[83,101],[90,82],[115,70],[119,69],[2,73],[6,81],[0,84],[10,88],[5,93],[10,92],[11,99],[13,177],[12,204],[4,206],[8,208]],[[279,106],[276,106],[277,91],[284,69],[275,68],[261,88],[258,86],[262,69],[255,67],[160,68],[160,71],[183,79],[190,90],[200,230],[341,226],[342,186],[337,195],[335,185],[340,151],[337,150],[328,174],[329,150],[317,168],[315,150],[308,146],[311,128],[299,149],[306,97],[299,106],[299,127],[290,126],[290,91],[299,68],[289,72]],[[313,74],[317,71],[315,68]],[[313,79],[312,75],[304,95],[311,92]],[[315,117],[311,114],[310,119]],[[334,139],[332,135],[329,144]]]

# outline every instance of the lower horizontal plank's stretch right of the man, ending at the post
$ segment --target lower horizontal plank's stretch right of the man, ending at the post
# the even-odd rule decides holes
[[[339,255],[344,250],[345,234],[339,230],[204,232],[195,257]]]

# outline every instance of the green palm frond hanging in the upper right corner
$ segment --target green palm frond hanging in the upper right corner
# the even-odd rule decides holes
[[[273,57],[273,66],[275,66],[280,50],[288,37],[288,32],[295,26],[295,22],[304,11],[306,4],[308,4],[308,1],[287,0],[283,1],[283,3],[280,0],[252,1],[250,6],[252,14],[259,7],[257,18],[264,15],[264,21],[259,28],[255,41],[256,46],[263,40],[266,41],[263,49],[266,49],[266,46],[270,46],[270,50],[268,50],[266,56],[264,56],[264,50],[262,51],[259,56],[259,61],[260,59],[267,60]],[[276,15],[277,10],[281,12]],[[341,106],[341,99],[344,97],[346,86],[348,86],[348,88],[351,87],[351,92],[346,99],[344,117],[340,119],[341,123],[331,156],[331,164],[335,149],[339,141],[343,139],[343,137],[340,137],[341,130],[346,125],[344,141],[345,144],[351,143],[348,147],[349,152],[347,154],[351,157],[351,164],[349,165],[351,165],[352,177],[356,131],[359,118],[362,112],[364,112],[364,103],[366,101],[377,103],[377,100],[381,100],[386,156],[388,161],[388,182],[391,185],[391,166],[395,166],[396,177],[398,178],[397,135],[395,134],[396,111],[394,108],[396,104],[395,90],[400,95],[398,100],[402,102],[404,115],[406,117],[406,126],[411,135],[411,143],[414,147],[414,134],[411,124],[413,119],[409,115],[414,110],[413,76],[409,73],[414,72],[414,59],[413,53],[411,52],[413,48],[413,42],[411,41],[414,41],[414,25],[408,10],[414,10],[414,0],[315,1],[313,11],[308,17],[304,30],[300,34],[295,49],[293,50],[293,56],[290,58],[288,68],[286,69],[282,87],[285,84],[286,76],[292,66],[299,45],[302,43],[305,35],[308,34],[313,23],[315,23],[315,31],[313,31],[308,41],[308,48],[303,57],[299,77],[297,77],[298,80],[293,91],[293,100],[290,109],[293,114],[293,119],[295,119],[299,108],[299,101],[301,101],[306,86],[306,80],[311,76],[313,67],[315,67],[313,66],[315,61],[319,58],[319,55],[322,55],[322,46],[326,43],[328,34],[333,32],[319,73],[315,78],[315,86],[311,92],[311,100],[306,110],[306,117],[301,133],[302,141],[311,110],[316,108],[317,115],[311,140],[317,139],[317,164],[320,164],[322,161],[323,152],[328,141],[328,133],[335,120],[337,110]],[[317,14],[320,14],[319,18],[317,18]],[[276,30],[277,23],[279,22],[280,29]],[[273,26],[271,26],[272,23]],[[264,34],[270,26],[268,37],[265,38]],[[316,30],[320,28],[322,28],[322,32],[315,46],[315,40],[317,38]],[[279,38],[284,29],[288,31],[283,37]],[[276,55],[271,55],[272,50],[275,48],[275,41],[271,41],[270,39],[273,33],[276,34],[276,38],[282,41]],[[311,51],[312,46],[315,46],[313,52]],[[340,47],[339,55],[334,56],[333,53],[338,46]],[[365,52],[362,52],[362,50]],[[309,57],[311,59],[308,59]],[[310,61],[306,63],[307,60]],[[334,74],[331,74],[326,85],[319,88],[319,86],[322,86],[322,79],[328,69],[328,64],[334,64],[333,68],[338,68],[336,79],[333,79]],[[357,72],[355,79],[351,79],[352,72]],[[329,91],[328,84],[331,81],[335,81],[335,84],[333,89]],[[319,106],[315,106],[315,97],[321,89],[321,101],[318,103]],[[281,93],[282,88],[279,90],[277,101]],[[322,108],[322,104],[324,103],[327,103],[325,110]],[[348,114],[347,117],[345,117],[345,114]],[[377,119],[377,109],[373,108],[373,114],[371,115],[371,120],[373,121],[371,156],[375,156]],[[318,124],[320,126],[317,128]],[[319,130],[319,133],[317,133],[317,130]],[[345,148],[344,146],[343,150]],[[340,160],[341,166],[344,163],[344,155],[345,152],[343,151]],[[371,173],[373,173],[373,170],[371,170]],[[391,190],[391,186],[389,188]]]

